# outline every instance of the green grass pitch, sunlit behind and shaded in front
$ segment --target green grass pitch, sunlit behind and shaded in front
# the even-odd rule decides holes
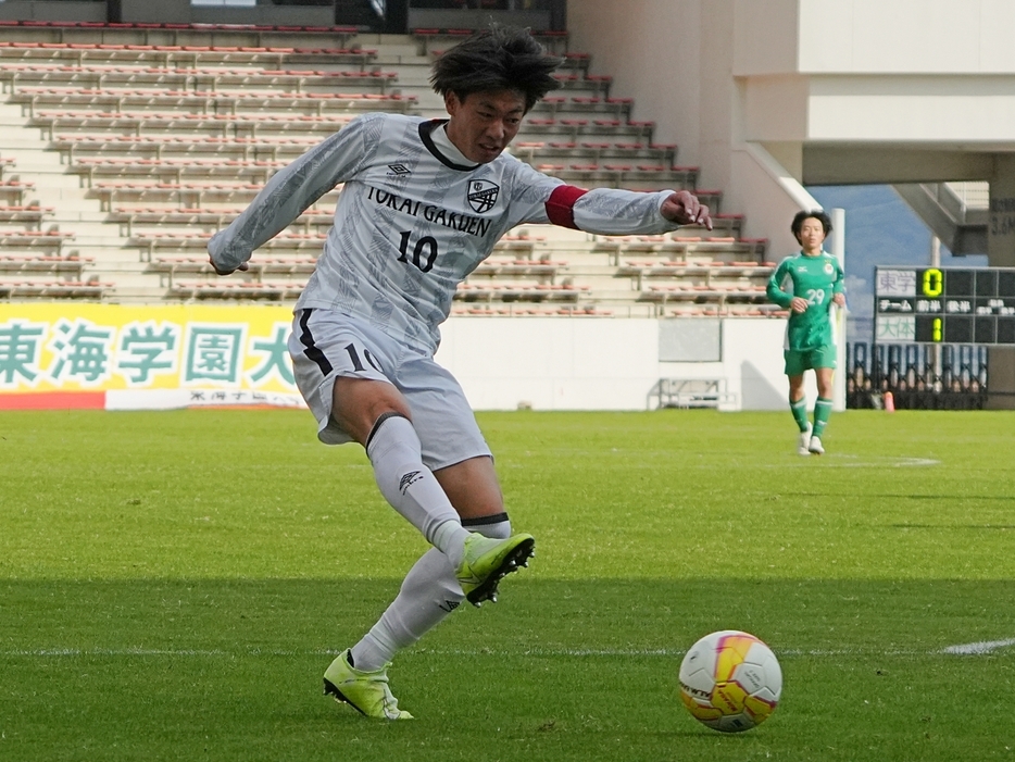
[[[851,411],[806,459],[789,412],[479,421],[537,558],[400,655],[384,724],[321,694],[424,550],[359,447],[0,414],[0,760],[1015,760],[1015,414]],[[785,676],[737,736],[677,695],[724,628]]]

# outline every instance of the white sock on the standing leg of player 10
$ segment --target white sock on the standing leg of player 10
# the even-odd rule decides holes
[[[511,537],[506,513],[463,522],[487,537]],[[448,557],[431,548],[409,570],[398,597],[371,630],[352,647],[358,670],[379,670],[459,608],[465,596]]]

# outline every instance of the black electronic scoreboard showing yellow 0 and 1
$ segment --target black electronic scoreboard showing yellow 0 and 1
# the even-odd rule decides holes
[[[875,267],[879,343],[1015,345],[1015,267]]]

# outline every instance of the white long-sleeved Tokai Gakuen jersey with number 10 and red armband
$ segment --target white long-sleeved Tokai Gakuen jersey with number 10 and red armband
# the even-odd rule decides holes
[[[455,288],[516,225],[553,222],[607,235],[677,227],[659,211],[669,190],[584,191],[509,154],[465,162],[447,140],[443,121],[358,116],[272,177],[211,239],[209,253],[220,270],[235,270],[344,183],[297,309],[362,317],[433,354]]]

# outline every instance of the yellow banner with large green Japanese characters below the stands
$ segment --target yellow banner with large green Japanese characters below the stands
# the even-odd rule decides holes
[[[298,397],[287,349],[291,320],[291,307],[281,305],[0,304],[0,396],[204,390],[220,392],[220,401],[221,392],[234,392],[237,402],[235,392],[243,392],[248,403]]]

